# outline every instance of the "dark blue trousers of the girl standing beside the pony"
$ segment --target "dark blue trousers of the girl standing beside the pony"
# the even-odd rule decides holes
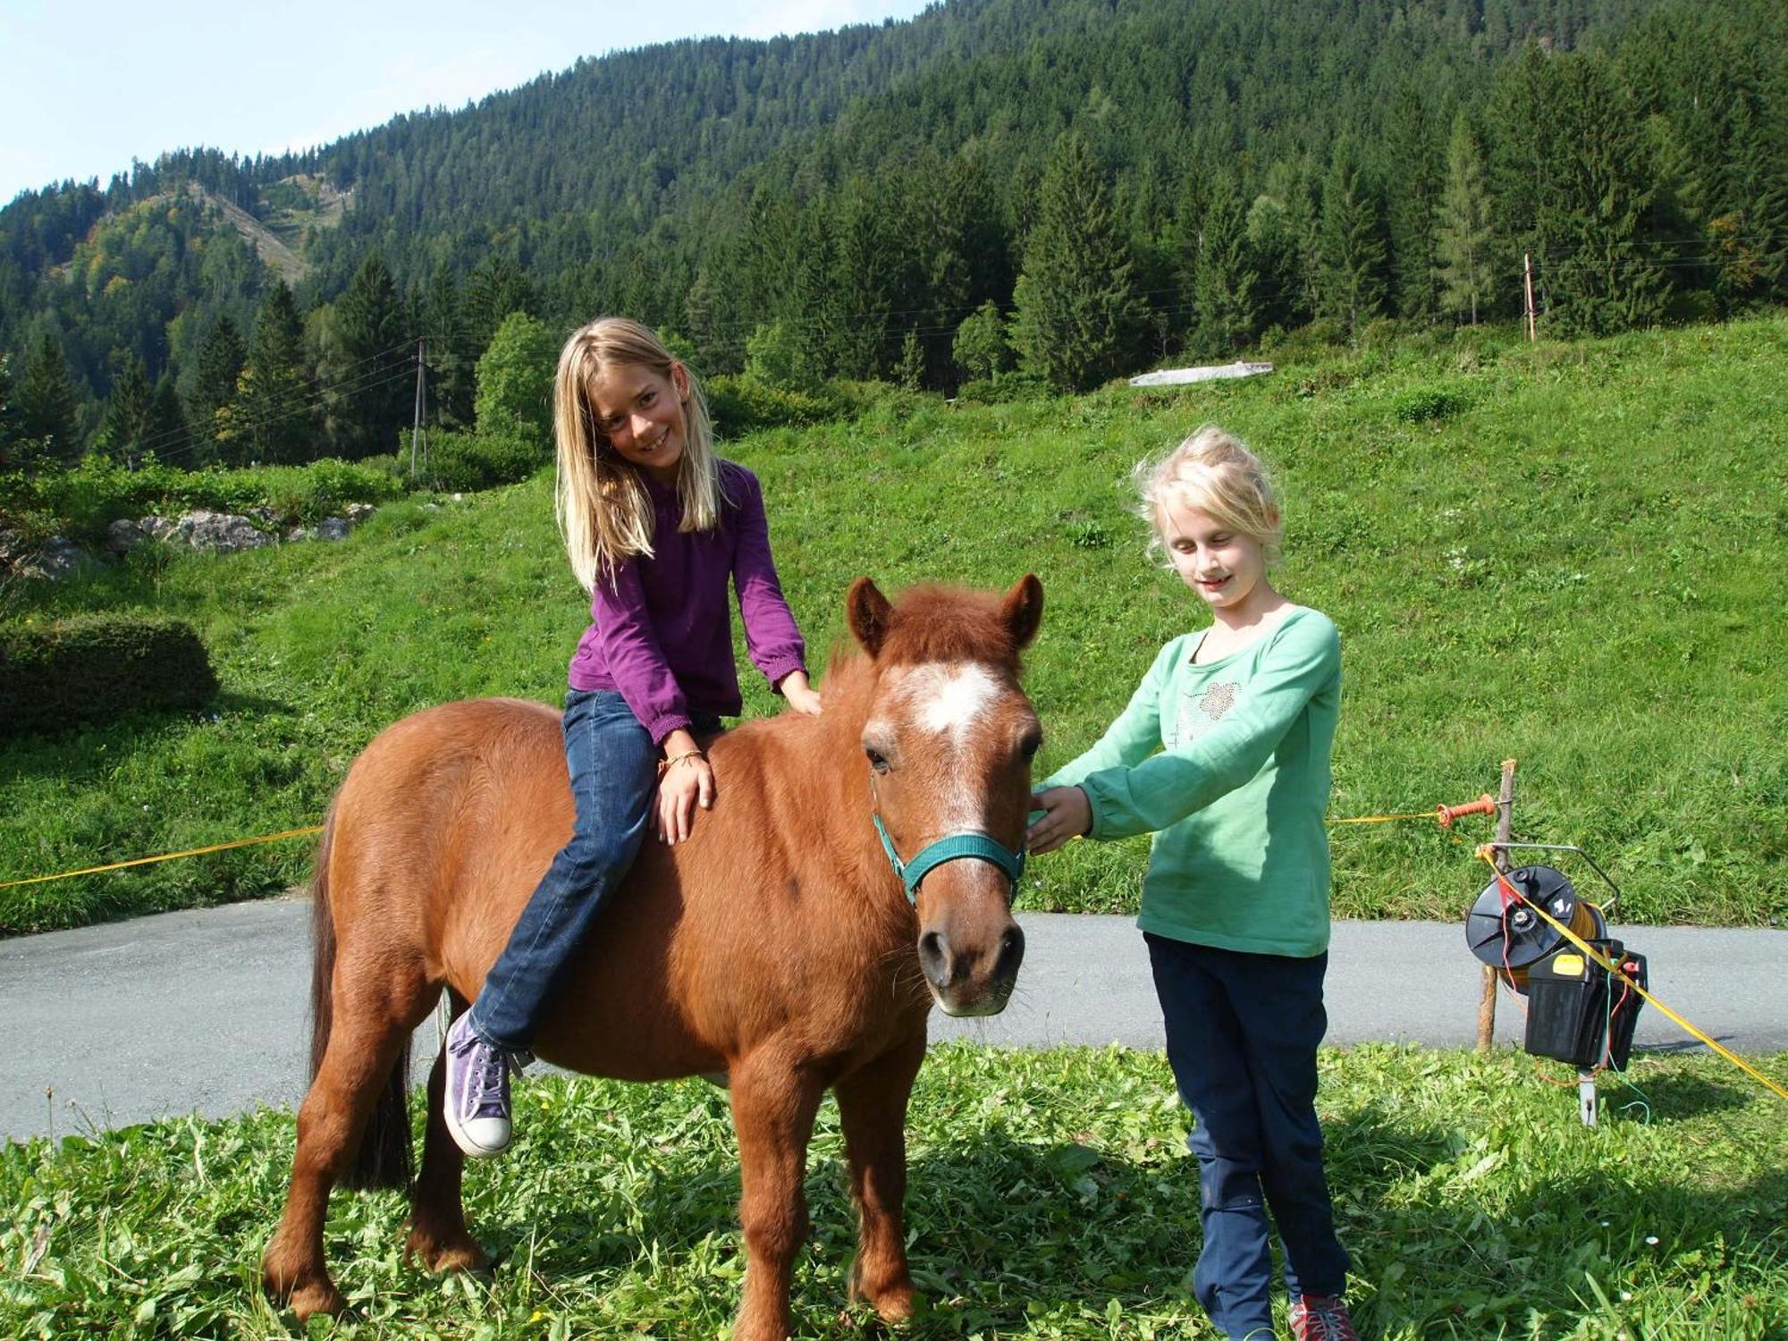
[[[1168,1062],[1198,1123],[1205,1246],[1193,1293],[1232,1337],[1273,1330],[1268,1207],[1286,1248],[1286,1289],[1341,1295],[1348,1255],[1336,1239],[1316,1044],[1328,1028],[1328,957],[1246,955],[1144,933],[1168,1026]],[[1264,1198],[1262,1198],[1264,1193]]]

